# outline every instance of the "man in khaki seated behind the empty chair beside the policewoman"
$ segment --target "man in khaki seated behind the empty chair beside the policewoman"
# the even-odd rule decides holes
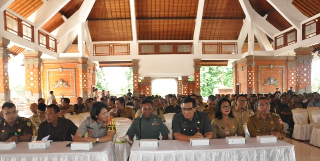
[[[135,116],[134,110],[130,107],[124,105],[125,100],[123,97],[119,97],[115,99],[115,107],[114,109],[109,111],[109,115],[113,116],[114,118],[128,118],[133,119]]]

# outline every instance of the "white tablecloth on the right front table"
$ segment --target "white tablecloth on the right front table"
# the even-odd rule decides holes
[[[159,141],[158,147],[139,147],[134,141],[129,161],[295,161],[294,146],[282,141],[227,145],[225,139],[210,140],[210,146],[191,147],[189,142]]]

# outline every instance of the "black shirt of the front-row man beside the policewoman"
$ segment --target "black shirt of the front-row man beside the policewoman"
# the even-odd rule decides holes
[[[38,129],[37,141],[40,141],[42,138],[50,135],[47,140],[52,140],[53,142],[72,142],[71,135],[75,135],[78,127],[68,119],[58,117],[57,125],[53,127],[52,123],[44,121],[40,124]]]

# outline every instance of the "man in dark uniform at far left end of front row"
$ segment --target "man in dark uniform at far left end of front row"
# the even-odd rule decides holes
[[[1,142],[30,142],[32,137],[31,122],[27,118],[18,117],[13,103],[4,103],[0,115],[4,118],[0,121]]]

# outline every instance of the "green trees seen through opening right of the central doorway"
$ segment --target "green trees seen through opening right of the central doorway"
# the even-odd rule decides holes
[[[214,88],[232,87],[232,69],[222,66],[201,66],[200,91],[202,96],[213,94]]]

